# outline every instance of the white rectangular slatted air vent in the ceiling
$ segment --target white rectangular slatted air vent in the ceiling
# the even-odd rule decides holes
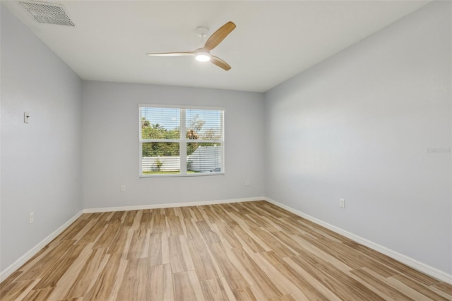
[[[75,26],[69,16],[66,15],[63,6],[45,2],[19,1],[19,3],[39,23]]]

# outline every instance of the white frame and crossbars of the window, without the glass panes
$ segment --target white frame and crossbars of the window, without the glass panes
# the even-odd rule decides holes
[[[142,107],[162,107],[168,109],[180,110],[180,126],[181,137],[180,139],[143,139],[141,135],[141,108]],[[187,143],[193,143],[194,141],[186,138],[186,110],[217,110],[221,111],[221,139],[218,140],[201,140],[199,143],[220,143],[221,147],[221,172],[195,172],[187,173],[186,170],[186,146]],[[144,142],[164,142],[164,143],[179,143],[179,156],[180,156],[180,172],[179,174],[157,174],[157,175],[143,175],[143,143]],[[197,107],[187,105],[154,105],[154,104],[138,104],[138,158],[139,158],[139,170],[138,175],[141,178],[146,177],[205,177],[215,175],[225,175],[225,108],[224,107]]]

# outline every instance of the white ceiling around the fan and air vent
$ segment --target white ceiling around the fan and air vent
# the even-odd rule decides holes
[[[81,78],[263,92],[403,18],[429,1],[46,1],[63,4],[75,28],[35,22],[2,1]],[[212,54],[224,71],[193,57],[146,52],[199,47],[196,27],[237,28]]]

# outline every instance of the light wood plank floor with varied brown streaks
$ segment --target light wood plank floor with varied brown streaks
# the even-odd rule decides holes
[[[265,201],[83,214],[3,300],[452,300],[452,285]]]

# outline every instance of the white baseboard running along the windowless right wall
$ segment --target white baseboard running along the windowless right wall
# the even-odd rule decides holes
[[[403,254],[400,254],[396,251],[393,251],[392,249],[388,249],[387,247],[383,247],[381,244],[377,244],[376,242],[371,242],[370,240],[366,240],[363,237],[360,237],[358,235],[355,235],[351,232],[348,232],[346,230],[343,230],[341,228],[338,228],[334,225],[328,224],[324,222],[323,220],[319,220],[318,218],[314,218],[312,216],[307,215],[306,213],[302,213],[301,211],[297,211],[294,208],[290,208],[289,206],[285,206],[283,203],[279,203],[278,201],[275,201],[273,199],[264,198],[268,203],[273,203],[273,205],[278,206],[280,208],[283,208],[287,211],[290,211],[297,216],[301,216],[302,218],[306,218],[307,220],[311,220],[311,222],[322,225],[323,227],[332,230],[336,233],[339,233],[340,235],[343,235],[347,238],[350,238],[350,240],[354,240],[355,242],[358,242],[359,244],[363,244],[366,247],[369,247],[371,249],[374,249],[382,254],[385,254],[387,256],[390,256],[393,259],[396,259],[397,261],[400,261],[403,264],[406,264],[407,266],[410,266],[412,268],[415,268],[417,271],[421,271],[422,273],[426,273],[429,276],[432,276],[436,279],[439,279],[440,281],[444,281],[446,283],[452,284],[452,275],[449,275],[448,273],[444,271],[440,271],[437,268],[434,268],[432,266],[429,266],[427,264],[423,264],[420,261],[417,261],[415,259],[412,259],[411,257],[405,256]]]

